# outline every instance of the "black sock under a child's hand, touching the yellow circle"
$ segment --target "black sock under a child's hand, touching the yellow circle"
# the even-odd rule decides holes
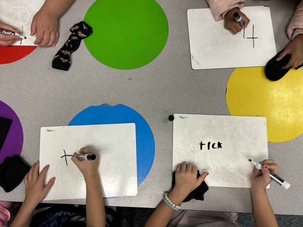
[[[287,69],[281,69],[282,66],[287,65],[291,58],[291,54],[286,54],[284,58],[282,58],[280,61],[276,61],[276,59],[279,57],[279,55],[284,50],[280,51],[278,54],[275,55],[275,57],[271,58],[268,63],[265,66],[265,76],[270,81],[278,81],[284,75],[291,69],[291,67]],[[303,64],[296,67],[296,69],[301,68]]]

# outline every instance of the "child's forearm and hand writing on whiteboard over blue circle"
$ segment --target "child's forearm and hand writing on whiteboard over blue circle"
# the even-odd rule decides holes
[[[92,154],[87,147],[81,148],[79,152]],[[74,153],[72,161],[80,169],[86,184],[86,226],[105,226],[105,207],[98,173],[99,157],[92,161],[78,160],[77,153]]]

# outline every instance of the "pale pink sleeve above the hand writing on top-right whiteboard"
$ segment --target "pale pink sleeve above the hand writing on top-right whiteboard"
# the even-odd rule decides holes
[[[206,0],[212,15],[214,15],[215,21],[224,19],[225,14],[232,8],[243,7],[245,0]]]

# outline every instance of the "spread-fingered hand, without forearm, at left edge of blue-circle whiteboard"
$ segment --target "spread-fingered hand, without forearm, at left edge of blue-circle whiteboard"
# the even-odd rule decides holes
[[[49,168],[49,165],[45,166],[41,173],[38,175],[39,161],[32,165],[31,169],[24,177],[25,183],[25,199],[24,203],[29,205],[32,209],[45,198],[49,190],[55,183],[55,177],[50,179],[46,185],[44,185],[45,175]]]

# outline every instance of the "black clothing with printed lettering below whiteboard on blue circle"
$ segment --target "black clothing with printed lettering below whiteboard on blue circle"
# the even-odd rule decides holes
[[[40,203],[34,210],[32,227],[85,227],[86,208],[83,205]],[[116,212],[105,206],[106,226],[115,226]]]

